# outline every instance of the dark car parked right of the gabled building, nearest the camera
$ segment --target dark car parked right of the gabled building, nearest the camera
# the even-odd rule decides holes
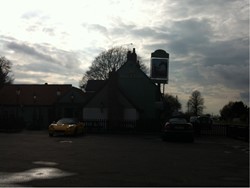
[[[185,139],[187,141],[194,141],[193,125],[188,123],[185,118],[175,117],[169,119],[163,127],[163,140],[169,139]]]

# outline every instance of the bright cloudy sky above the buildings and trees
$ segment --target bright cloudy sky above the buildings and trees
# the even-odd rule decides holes
[[[132,44],[131,44],[132,43]],[[112,47],[170,54],[165,93],[182,111],[194,90],[204,113],[229,101],[249,106],[248,0],[1,1],[0,56],[12,62],[15,84],[72,84]]]

